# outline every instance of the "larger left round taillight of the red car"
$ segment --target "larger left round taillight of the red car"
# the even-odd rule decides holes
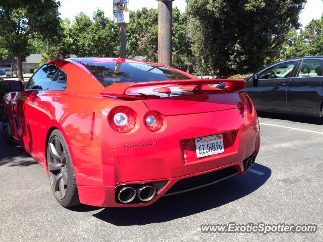
[[[129,107],[115,107],[107,116],[109,124],[114,131],[126,133],[136,125],[136,114]]]

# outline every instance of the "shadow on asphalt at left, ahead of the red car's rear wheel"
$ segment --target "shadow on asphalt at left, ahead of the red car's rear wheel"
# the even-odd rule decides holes
[[[29,166],[38,164],[21,146],[9,145],[3,138],[0,130],[0,166]]]

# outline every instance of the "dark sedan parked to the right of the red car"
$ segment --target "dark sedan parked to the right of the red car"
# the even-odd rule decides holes
[[[322,117],[323,56],[299,57],[246,78],[246,93],[258,111]]]

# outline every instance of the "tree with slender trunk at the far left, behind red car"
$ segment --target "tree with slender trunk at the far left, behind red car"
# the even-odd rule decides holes
[[[0,5],[0,48],[15,56],[18,78],[23,81],[22,62],[30,53],[31,39],[50,39],[58,34],[60,2],[55,0],[4,1]]]

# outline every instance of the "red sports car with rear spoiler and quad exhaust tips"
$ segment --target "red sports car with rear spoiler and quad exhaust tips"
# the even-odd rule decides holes
[[[9,84],[3,131],[64,207],[146,206],[245,173],[259,123],[244,80],[200,80],[123,58],[49,61]]]

